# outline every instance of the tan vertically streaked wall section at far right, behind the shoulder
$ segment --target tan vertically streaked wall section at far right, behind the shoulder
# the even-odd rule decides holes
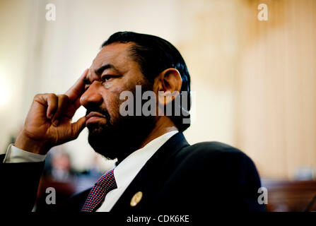
[[[268,1],[267,22],[251,20],[258,2],[240,21],[236,145],[262,175],[292,178],[316,168],[316,1]]]

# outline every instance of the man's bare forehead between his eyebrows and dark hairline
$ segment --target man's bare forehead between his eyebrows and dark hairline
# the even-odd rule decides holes
[[[105,64],[120,64],[122,61],[127,60],[128,49],[131,46],[129,43],[112,43],[103,47],[100,52],[98,52],[93,63],[90,67],[93,71],[100,68]]]

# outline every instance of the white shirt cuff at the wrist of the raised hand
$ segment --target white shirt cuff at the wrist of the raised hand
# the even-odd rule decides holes
[[[8,145],[8,149],[6,150],[4,163],[42,162],[45,160],[45,157],[46,155],[34,154],[20,148],[16,148],[13,143],[11,143]]]

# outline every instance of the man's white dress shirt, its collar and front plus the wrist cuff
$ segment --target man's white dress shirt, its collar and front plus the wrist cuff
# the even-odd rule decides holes
[[[154,153],[171,138],[178,131],[170,131],[159,136],[153,141],[147,143],[144,148],[134,151],[127,156],[122,162],[114,169],[115,181],[117,189],[113,189],[106,196],[97,212],[108,212],[112,209],[115,203],[122,196],[127,186],[131,184],[132,180],[136,177],[146,162],[153,156]],[[34,153],[16,148],[14,145],[9,145],[4,158],[4,163],[11,162],[42,162],[46,155],[37,155]]]

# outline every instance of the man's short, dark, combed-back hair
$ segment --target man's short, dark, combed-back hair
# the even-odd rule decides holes
[[[180,52],[168,41],[154,35],[139,34],[136,32],[116,32],[103,42],[102,47],[114,42],[134,42],[130,52],[134,60],[139,64],[141,72],[144,76],[153,83],[156,76],[165,69],[174,68],[179,71],[182,78],[182,87],[179,98],[187,98],[187,106],[180,105],[180,116],[173,114],[170,119],[173,121],[177,129],[185,131],[190,126],[189,123],[189,109],[191,108],[190,95],[190,76],[187,70],[185,60],[182,58]],[[186,91],[187,95],[181,95],[182,91]],[[180,99],[180,103],[182,101]],[[183,123],[186,118],[186,123]]]

